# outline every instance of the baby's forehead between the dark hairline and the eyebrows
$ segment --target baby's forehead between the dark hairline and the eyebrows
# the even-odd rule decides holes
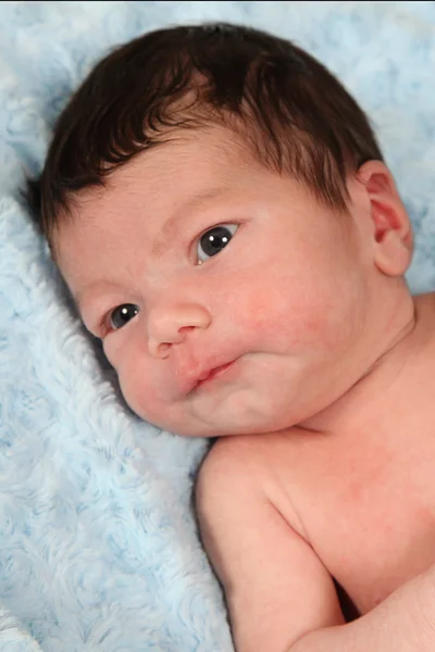
[[[104,186],[87,188],[73,198],[54,238],[61,272],[67,280],[80,271],[91,272],[103,254],[111,258],[122,251],[123,243],[130,247],[138,228],[147,241],[158,244],[159,238],[174,233],[173,217],[184,205],[200,209],[226,190],[248,188],[253,176],[264,174],[241,139],[228,129],[175,134],[116,168]],[[86,260],[86,269],[83,265],[80,269],[79,259]]]

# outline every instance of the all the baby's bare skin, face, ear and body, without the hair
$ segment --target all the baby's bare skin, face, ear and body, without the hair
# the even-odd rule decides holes
[[[77,196],[55,235],[130,406],[220,437],[197,505],[238,652],[435,647],[435,299],[403,280],[386,166],[348,190],[336,215],[215,127]]]

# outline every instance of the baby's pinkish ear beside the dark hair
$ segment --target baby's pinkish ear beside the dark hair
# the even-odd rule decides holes
[[[357,179],[370,201],[373,261],[383,274],[402,276],[411,262],[413,237],[393,175],[382,161],[368,161],[359,168]]]

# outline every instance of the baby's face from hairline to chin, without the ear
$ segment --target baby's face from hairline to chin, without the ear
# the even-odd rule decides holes
[[[334,215],[227,131],[187,131],[87,190],[58,261],[137,414],[189,436],[278,430],[358,379],[357,204]]]

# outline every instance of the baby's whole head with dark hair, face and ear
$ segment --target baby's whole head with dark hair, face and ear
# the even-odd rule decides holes
[[[133,410],[191,436],[304,423],[409,311],[412,235],[363,111],[288,41],[175,27],[54,129],[39,226]]]

